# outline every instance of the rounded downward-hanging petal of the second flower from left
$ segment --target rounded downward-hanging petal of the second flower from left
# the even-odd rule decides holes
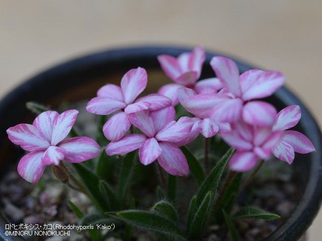
[[[123,111],[114,114],[103,126],[104,136],[110,141],[117,141],[130,129],[131,122]]]

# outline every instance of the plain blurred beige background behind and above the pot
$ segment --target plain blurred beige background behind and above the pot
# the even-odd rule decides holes
[[[0,0],[0,96],[69,58],[122,45],[203,45],[266,69],[322,124],[322,1]],[[309,229],[321,240],[322,212]]]

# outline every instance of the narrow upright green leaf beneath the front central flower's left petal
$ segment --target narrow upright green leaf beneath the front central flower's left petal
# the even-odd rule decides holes
[[[123,207],[126,199],[127,189],[132,177],[132,172],[134,168],[134,161],[137,158],[137,152],[128,153],[122,160],[122,167],[119,175],[118,183],[118,197],[120,201],[120,206]]]

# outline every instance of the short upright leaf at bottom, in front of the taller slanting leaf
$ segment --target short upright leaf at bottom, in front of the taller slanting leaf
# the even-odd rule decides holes
[[[208,218],[209,209],[211,206],[211,192],[202,200],[200,206],[197,206],[196,213],[192,219],[191,225],[188,230],[189,237],[197,237],[200,235],[204,228],[204,224]]]

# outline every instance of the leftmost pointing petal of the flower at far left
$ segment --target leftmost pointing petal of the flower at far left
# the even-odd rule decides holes
[[[33,152],[47,149],[50,144],[32,125],[20,124],[7,130],[8,137],[25,151]]]

